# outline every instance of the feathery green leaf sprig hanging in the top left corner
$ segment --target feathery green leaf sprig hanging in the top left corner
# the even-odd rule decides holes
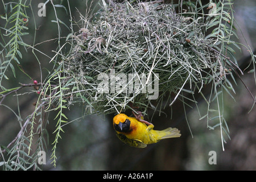
[[[9,80],[7,77],[7,69],[11,68],[14,77],[16,76],[14,64],[20,64],[19,59],[22,59],[22,53],[19,51],[19,46],[27,47],[28,45],[23,42],[22,36],[27,35],[25,32],[28,30],[26,23],[28,21],[28,16],[26,14],[25,6],[26,1],[20,0],[18,3],[10,2],[4,5],[5,16],[1,16],[2,19],[6,20],[6,26],[1,27],[5,30],[5,34],[1,34],[3,39],[3,44],[0,44],[2,50],[0,52],[3,60],[1,61],[0,67],[0,86],[1,89],[5,90],[3,87],[3,78]],[[9,40],[5,42],[3,36],[7,37]]]

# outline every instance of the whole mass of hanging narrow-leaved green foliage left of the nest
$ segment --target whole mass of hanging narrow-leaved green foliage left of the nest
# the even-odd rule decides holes
[[[48,3],[49,1],[46,1]],[[39,151],[47,151],[48,146],[48,133],[46,130],[47,122],[48,122],[48,112],[52,110],[56,110],[58,113],[56,115],[56,130],[53,132],[56,134],[56,138],[53,141],[52,147],[52,163],[53,166],[56,166],[56,146],[57,142],[60,137],[61,124],[67,122],[68,119],[65,114],[63,113],[64,109],[67,109],[65,106],[65,99],[63,96],[63,91],[67,90],[65,85],[62,85],[63,80],[65,77],[61,77],[61,70],[59,68],[55,68],[55,63],[53,64],[52,71],[49,71],[49,75],[46,76],[46,80],[43,82],[39,82],[36,84],[20,84],[20,86],[15,88],[7,89],[4,86],[3,79],[9,80],[10,73],[8,72],[9,69],[13,72],[13,76],[16,77],[15,72],[15,65],[24,73],[24,75],[31,78],[22,68],[22,51],[20,51],[20,47],[32,48],[32,53],[34,54],[35,58],[39,61],[38,56],[34,53],[34,51],[38,51],[39,53],[43,53],[39,51],[33,46],[30,46],[24,41],[23,36],[28,35],[28,32],[32,33],[32,31],[28,30],[28,16],[27,11],[33,15],[31,19],[35,19],[31,1],[18,1],[18,2],[9,2],[5,3],[2,2],[5,7],[5,14],[1,15],[1,18],[6,21],[5,27],[1,27],[1,38],[2,43],[1,46],[1,67],[0,67],[0,106],[6,107],[13,111],[18,119],[19,125],[21,126],[21,130],[19,131],[18,135],[16,135],[15,139],[8,145],[2,146],[1,145],[1,152],[0,152],[0,166],[2,169],[5,170],[28,170],[28,169],[39,169],[40,165],[38,164],[38,152]],[[63,8],[63,5],[53,5],[53,9],[55,8]],[[65,11],[67,11],[65,9]],[[55,11],[56,12],[56,11]],[[60,24],[64,24],[59,18],[56,20],[52,20],[53,23],[57,23],[57,27],[60,32]],[[31,22],[32,23],[32,22]],[[34,22],[35,23],[35,22]],[[36,25],[35,25],[36,30]],[[28,31],[28,32],[25,32]],[[5,32],[5,33],[3,33]],[[34,34],[36,34],[34,32]],[[36,36],[34,36],[34,39]],[[60,36],[59,45],[60,45]],[[34,40],[35,42],[35,40]],[[58,51],[61,51],[60,47]],[[47,53],[43,53],[43,55],[47,55]],[[58,55],[51,57],[51,61],[56,61],[58,59]],[[2,61],[3,60],[3,61]],[[40,65],[40,62],[39,62]],[[54,69],[55,68],[55,69]],[[40,70],[42,72],[42,70]],[[42,75],[42,73],[41,73]],[[53,84],[54,83],[54,84]],[[22,90],[25,87],[34,86],[35,90],[32,92],[35,94],[38,92],[38,101],[35,102],[35,110],[32,114],[28,115],[27,118],[23,119],[20,117],[20,113],[16,114],[14,110],[12,110],[9,106],[5,104],[5,98],[9,96],[9,94],[15,94],[18,90]],[[24,93],[26,94],[26,93]],[[27,93],[28,94],[28,93]],[[19,102],[18,98],[19,95],[16,94],[17,98],[17,106],[19,110]],[[56,106],[52,108],[52,105]],[[7,155],[5,155],[7,153]]]

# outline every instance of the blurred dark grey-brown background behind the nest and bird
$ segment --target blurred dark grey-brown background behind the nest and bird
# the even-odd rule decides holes
[[[7,3],[7,1],[4,1]],[[27,27],[31,34],[24,36],[24,42],[33,44],[42,43],[35,46],[36,49],[46,53],[47,56],[55,55],[58,30],[55,20],[55,11],[50,3],[46,6],[46,16],[37,16],[38,4],[45,1],[31,1],[32,11],[35,14],[35,20],[29,19]],[[53,1],[56,5],[61,1]],[[170,1],[172,2],[172,1]],[[205,1],[208,3],[209,1]],[[62,5],[68,7],[67,1],[63,1]],[[91,6],[90,6],[91,5]],[[1,4],[2,6],[2,4]],[[69,1],[71,7],[72,18],[79,20],[79,12],[82,15],[86,13],[96,12],[100,6],[98,1]],[[90,11],[88,7],[90,6]],[[237,40],[241,44],[249,45],[254,51],[256,47],[256,2],[253,0],[234,1],[233,4],[235,18],[237,24]],[[70,15],[65,9],[56,8],[58,17],[61,21],[69,24]],[[68,10],[68,9],[67,9]],[[0,7],[0,14],[3,14],[3,7]],[[31,12],[27,12],[32,17]],[[35,24],[36,31],[35,31]],[[0,20],[1,27],[5,21]],[[77,28],[77,30],[76,30]],[[75,31],[78,31],[78,27]],[[1,30],[3,31],[3,30]],[[61,37],[69,34],[69,28],[61,24]],[[36,34],[35,34],[36,32]],[[242,32],[242,33],[241,33]],[[54,39],[54,40],[51,40]],[[245,42],[246,39],[246,42]],[[63,39],[65,41],[65,39]],[[242,51],[236,53],[238,64],[241,65],[244,75],[241,76],[243,82],[250,89],[253,96],[256,94],[255,78],[253,73],[248,73],[254,66],[250,63],[250,54],[247,48],[241,47]],[[19,82],[30,84],[33,80],[40,81],[40,67],[42,69],[42,80],[48,74],[48,70],[52,69],[49,64],[49,57],[35,51],[39,61],[35,59],[32,49],[20,50],[23,55],[22,69],[32,77],[32,80],[17,69],[16,75],[20,77],[12,77],[10,71],[9,80],[3,84],[6,88],[14,88],[19,86]],[[163,130],[167,127],[177,127],[181,131],[180,138],[166,139],[159,143],[151,144],[146,148],[133,148],[123,144],[116,136],[112,126],[114,115],[89,115],[82,117],[83,107],[73,105],[69,111],[66,111],[69,121],[63,127],[65,133],[61,134],[61,140],[57,144],[57,166],[54,168],[51,164],[51,143],[55,135],[56,113],[51,113],[48,118],[48,151],[47,164],[42,166],[43,170],[255,170],[256,169],[256,108],[253,106],[253,100],[247,92],[243,83],[236,77],[237,86],[234,86],[236,94],[233,94],[235,101],[228,95],[224,95],[225,119],[228,122],[229,135],[225,137],[225,151],[222,150],[220,130],[207,129],[207,121],[199,120],[197,108],[193,105],[193,109],[187,108],[184,114],[183,105],[179,101],[170,109],[166,107],[164,112],[166,115],[151,115],[152,123],[156,130]],[[27,89],[27,90],[26,90]],[[32,88],[24,88],[20,93],[30,92]],[[208,88],[205,88],[207,92]],[[198,109],[204,111],[207,104],[200,98],[195,96],[199,101]],[[23,120],[34,111],[33,105],[38,99],[38,95],[31,93],[24,96],[20,95],[19,100],[15,96],[8,96],[5,104],[10,109],[0,106],[0,144],[7,146],[13,140],[20,130],[20,125],[14,114],[20,113]],[[19,105],[19,110],[17,105]],[[214,108],[213,108],[214,109]],[[251,110],[251,111],[250,111]],[[250,111],[250,112],[249,112]],[[128,113],[130,114],[130,113]],[[185,121],[187,117],[189,122]],[[216,151],[217,164],[209,164],[209,152]]]

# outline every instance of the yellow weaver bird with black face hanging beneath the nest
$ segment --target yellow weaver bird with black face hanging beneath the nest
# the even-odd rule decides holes
[[[180,131],[176,128],[168,127],[162,131],[153,130],[154,125],[144,121],[141,115],[135,115],[135,117],[117,114],[113,118],[113,126],[117,132],[117,137],[131,147],[144,148],[147,147],[147,144],[156,143],[162,139],[181,136]]]

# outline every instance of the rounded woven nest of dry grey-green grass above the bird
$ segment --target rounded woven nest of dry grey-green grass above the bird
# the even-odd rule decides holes
[[[209,50],[213,40],[205,38],[203,18],[176,14],[172,5],[117,3],[93,18],[81,16],[81,22],[69,38],[73,48],[64,72],[87,113],[119,113],[130,103],[146,112],[156,109],[152,101],[162,104],[167,97],[172,105],[181,91],[200,92],[204,84],[221,79],[222,66]]]

